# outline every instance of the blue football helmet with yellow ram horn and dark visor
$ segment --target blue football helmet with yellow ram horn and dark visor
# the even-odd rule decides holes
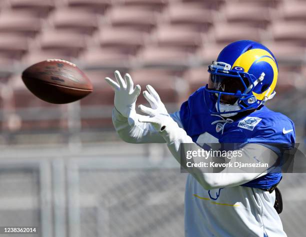
[[[255,41],[228,44],[208,66],[208,72],[205,90],[215,100],[212,114],[233,116],[257,108],[275,94],[276,59],[268,48]]]

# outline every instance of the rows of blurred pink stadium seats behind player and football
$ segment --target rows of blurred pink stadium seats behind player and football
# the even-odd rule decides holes
[[[206,83],[207,64],[224,45],[246,38],[274,52],[277,89],[301,87],[305,22],[303,0],[1,0],[1,107],[14,114],[53,106],[20,79],[22,69],[46,58],[85,70],[94,92],[81,106],[113,103],[103,78],[114,69],[129,72],[143,89],[152,84],[167,103],[181,102]]]

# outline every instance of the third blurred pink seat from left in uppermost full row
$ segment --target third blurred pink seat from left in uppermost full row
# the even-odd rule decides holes
[[[106,16],[113,26],[124,26],[146,32],[156,24],[156,13],[144,7],[116,6],[110,8]]]

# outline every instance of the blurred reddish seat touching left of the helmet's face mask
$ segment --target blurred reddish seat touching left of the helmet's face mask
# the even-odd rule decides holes
[[[206,66],[191,67],[184,72],[183,78],[189,84],[189,94],[208,83],[207,69],[208,68]]]

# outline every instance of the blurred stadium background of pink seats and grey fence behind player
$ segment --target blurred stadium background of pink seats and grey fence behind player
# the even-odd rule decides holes
[[[183,236],[185,174],[165,145],[120,141],[103,78],[129,72],[171,112],[238,39],[278,59],[267,105],[295,122],[304,150],[304,0],[0,0],[0,225],[39,226],[42,237]],[[20,73],[46,58],[76,63],[94,92],[66,105],[34,97]],[[304,236],[305,178],[280,183],[288,236]]]

